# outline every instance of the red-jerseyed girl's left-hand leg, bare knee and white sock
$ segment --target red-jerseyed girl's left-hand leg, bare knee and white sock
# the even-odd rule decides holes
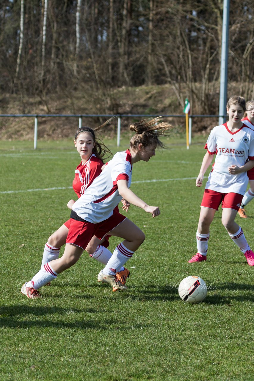
[[[53,261],[59,257],[60,249],[66,242],[68,232],[69,228],[65,225],[62,225],[49,237],[43,251],[42,267],[46,263]]]

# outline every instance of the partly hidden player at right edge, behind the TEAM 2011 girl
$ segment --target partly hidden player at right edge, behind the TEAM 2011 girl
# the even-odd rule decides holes
[[[246,116],[242,119],[242,122],[246,124],[249,128],[254,130],[254,101],[248,101],[246,103]],[[254,168],[247,172],[249,178],[249,190],[243,196],[243,201],[241,203],[238,214],[241,218],[247,218],[246,211],[244,207],[254,199]]]

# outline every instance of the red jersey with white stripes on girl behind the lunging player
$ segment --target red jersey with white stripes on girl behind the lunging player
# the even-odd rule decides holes
[[[85,193],[94,179],[99,176],[102,166],[102,160],[94,154],[92,154],[85,163],[81,162],[77,166],[72,187],[78,198]]]

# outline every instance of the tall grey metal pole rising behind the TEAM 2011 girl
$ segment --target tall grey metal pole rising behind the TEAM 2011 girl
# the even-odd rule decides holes
[[[227,76],[228,76],[228,25],[229,25],[229,3],[223,2],[222,20],[222,42],[221,42],[221,62],[220,62],[220,103],[219,103],[219,125],[225,123],[227,105]]]

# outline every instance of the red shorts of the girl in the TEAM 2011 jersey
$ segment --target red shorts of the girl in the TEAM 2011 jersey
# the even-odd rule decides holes
[[[211,189],[205,189],[201,207],[218,210],[220,204],[222,203],[222,209],[229,208],[238,211],[242,199],[243,195],[239,193],[220,193],[212,191]]]

